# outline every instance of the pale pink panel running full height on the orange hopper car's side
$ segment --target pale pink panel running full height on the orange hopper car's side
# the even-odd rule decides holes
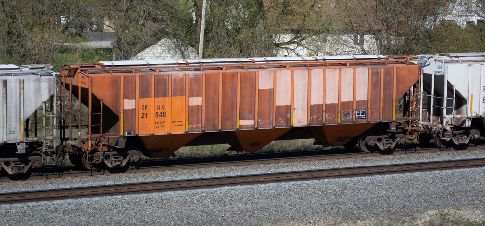
[[[308,70],[295,70],[293,126],[307,125]]]

